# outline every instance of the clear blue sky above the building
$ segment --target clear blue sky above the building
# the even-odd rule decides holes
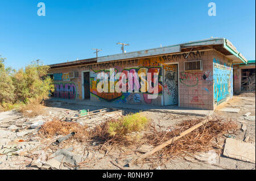
[[[38,16],[38,3],[46,16]],[[217,15],[208,16],[208,3]],[[255,60],[254,0],[64,1],[0,0],[0,54],[6,65],[24,68],[32,60],[56,64],[225,37],[247,60]]]

